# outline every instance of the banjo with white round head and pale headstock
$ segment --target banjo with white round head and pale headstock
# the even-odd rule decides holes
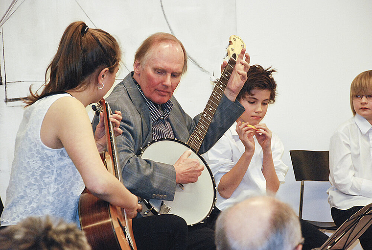
[[[196,225],[204,223],[209,218],[216,202],[216,184],[213,174],[209,169],[207,162],[198,153],[209,125],[216,112],[217,106],[222,98],[226,85],[236,64],[237,54],[240,53],[245,44],[238,36],[230,37],[227,54],[229,61],[222,72],[221,77],[215,81],[212,94],[209,97],[206,107],[192,132],[187,143],[177,139],[159,139],[149,143],[141,149],[139,157],[156,162],[173,165],[178,158],[186,151],[191,150],[189,158],[198,159],[200,164],[204,165],[204,170],[194,183],[177,184],[174,200],[159,199],[141,199],[148,208],[142,212],[143,216],[159,214],[175,214],[182,217],[187,225]],[[160,152],[168,152],[166,154]],[[153,197],[156,198],[156,197]],[[160,197],[161,199],[161,197]]]

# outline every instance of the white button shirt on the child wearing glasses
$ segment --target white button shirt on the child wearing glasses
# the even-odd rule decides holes
[[[356,114],[340,125],[329,145],[331,207],[346,210],[372,203],[372,125]]]

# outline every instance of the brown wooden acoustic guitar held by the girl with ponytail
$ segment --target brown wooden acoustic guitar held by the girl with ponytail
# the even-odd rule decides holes
[[[107,135],[107,151],[101,153],[101,158],[107,170],[121,182],[114,127],[109,120],[112,111],[104,99],[100,100],[98,109],[103,112]],[[79,218],[93,250],[137,250],[132,220],[127,218],[125,210],[93,196],[87,189],[80,196]]]

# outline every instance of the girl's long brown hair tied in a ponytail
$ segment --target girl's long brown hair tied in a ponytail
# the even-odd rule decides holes
[[[119,65],[121,51],[116,39],[102,29],[91,29],[84,22],[70,24],[62,35],[57,53],[46,68],[45,88],[24,98],[26,106],[54,92],[84,89],[89,76],[99,68],[112,73]],[[48,77],[49,76],[49,77]]]

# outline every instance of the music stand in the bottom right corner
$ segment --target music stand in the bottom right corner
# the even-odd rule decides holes
[[[366,205],[345,221],[323,244],[315,250],[346,250],[372,224],[372,203]]]

